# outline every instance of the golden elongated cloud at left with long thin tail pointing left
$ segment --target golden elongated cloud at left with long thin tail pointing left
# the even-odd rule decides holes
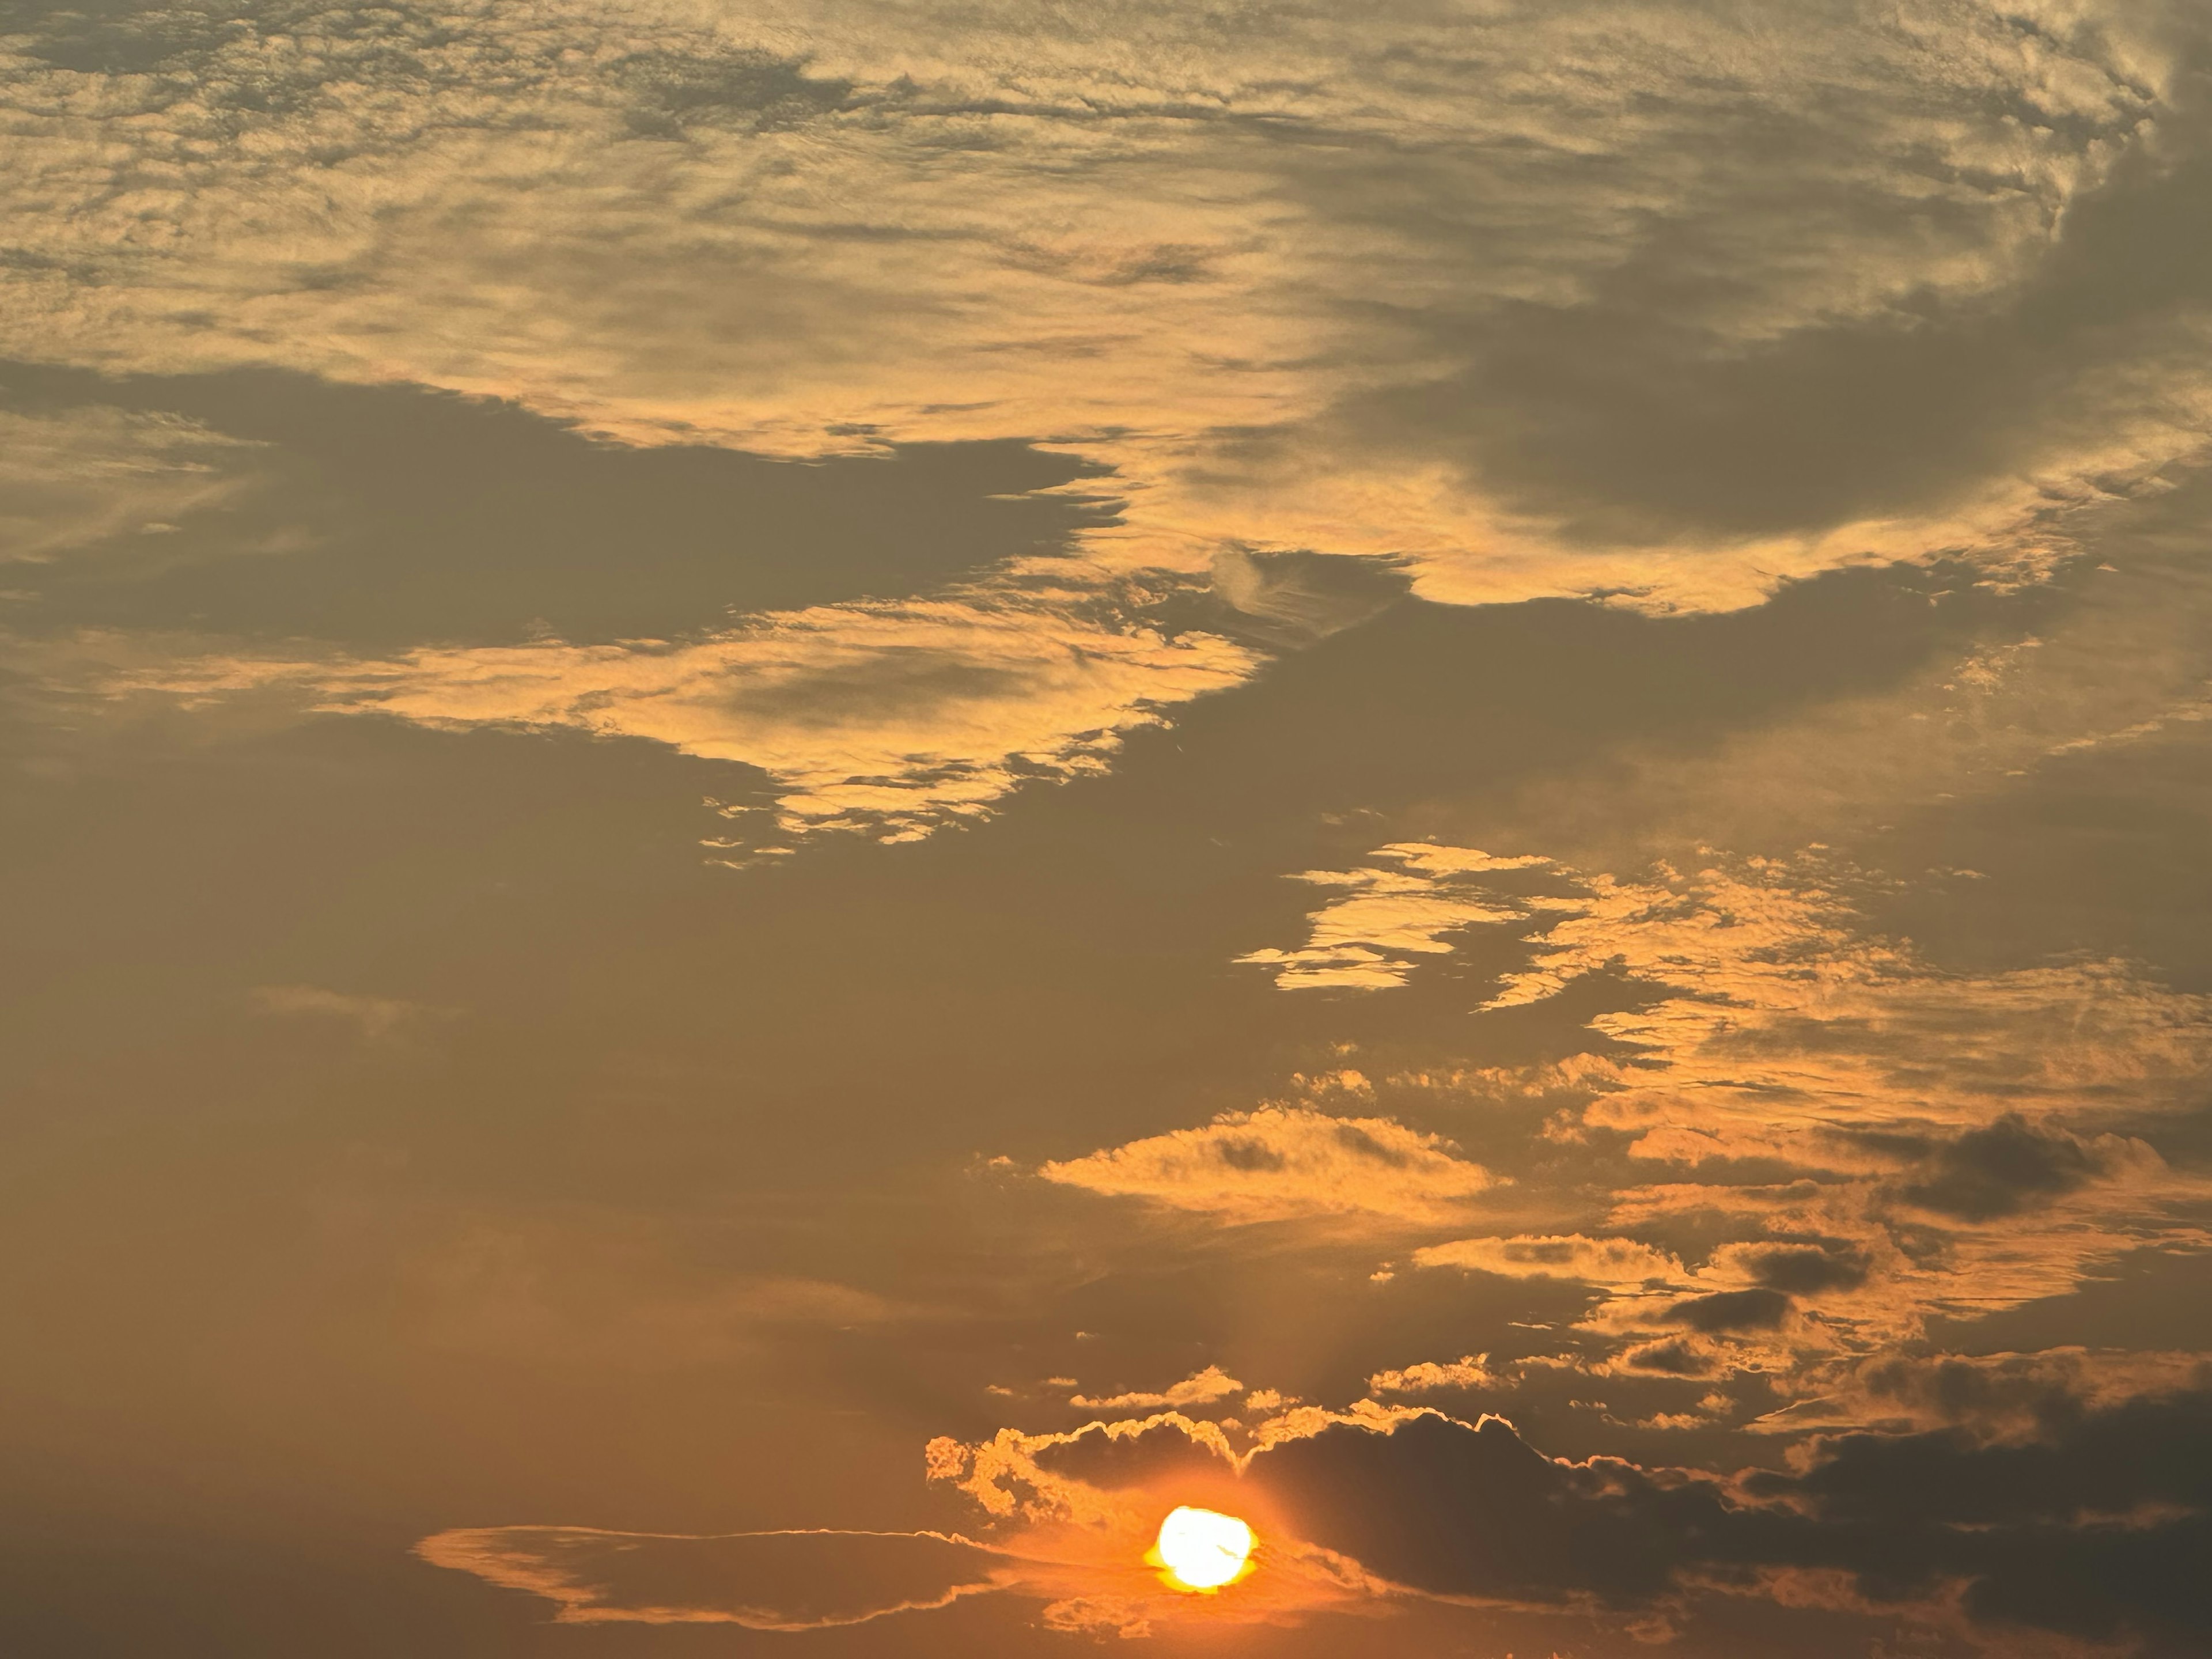
[[[106,677],[188,706],[294,695],[319,712],[440,730],[566,728],[739,761],[779,787],[781,830],[909,841],[1026,779],[1104,768],[1164,710],[1256,657],[1095,615],[1110,595],[1040,584],[768,613],[677,641],[473,646],[389,659],[215,655]]]

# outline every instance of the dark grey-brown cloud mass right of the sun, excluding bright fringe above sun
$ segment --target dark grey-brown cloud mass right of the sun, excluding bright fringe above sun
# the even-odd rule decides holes
[[[1637,1608],[1692,1582],[1843,1573],[1865,1604],[1927,1619],[1962,1584],[1980,1632],[2212,1641],[2205,1391],[2077,1411],[2033,1442],[1854,1433],[1739,1482],[1555,1460],[1500,1418],[1442,1416],[1332,1425],[1252,1475],[1314,1542],[1433,1595]]]

